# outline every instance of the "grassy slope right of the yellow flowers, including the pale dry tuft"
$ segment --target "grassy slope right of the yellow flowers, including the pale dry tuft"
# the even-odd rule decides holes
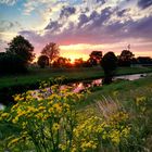
[[[152,77],[134,81],[119,81],[104,86],[90,94],[86,102],[100,101],[102,115],[109,112],[113,115],[115,106],[128,114],[128,125],[131,127],[126,144],[121,145],[121,152],[152,151]],[[104,94],[104,98],[102,97]],[[106,102],[103,102],[106,98]],[[97,102],[94,102],[97,103]],[[97,105],[99,109],[101,105]],[[101,112],[100,110],[100,112]],[[104,111],[103,111],[104,110]],[[105,116],[106,116],[105,115]],[[110,144],[109,144],[110,145]],[[111,150],[114,151],[114,150]],[[118,151],[118,150],[117,150]]]

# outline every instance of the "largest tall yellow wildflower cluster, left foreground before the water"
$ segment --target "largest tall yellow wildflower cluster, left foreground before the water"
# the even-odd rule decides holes
[[[0,121],[16,125],[22,130],[17,137],[8,139],[8,147],[26,140],[33,142],[37,151],[72,150],[76,109],[84,94],[73,92],[71,87],[61,89],[60,85],[53,85],[46,90],[43,86],[37,92],[16,94],[16,103],[11,110],[0,113]],[[50,93],[46,93],[48,89]]]

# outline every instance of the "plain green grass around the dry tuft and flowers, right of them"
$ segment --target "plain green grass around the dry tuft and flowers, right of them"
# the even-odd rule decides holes
[[[142,97],[147,100],[137,106],[136,100]],[[132,127],[132,135],[128,141],[128,151],[152,151],[152,75],[134,81],[122,80],[94,88],[80,109],[93,109],[98,115],[98,102],[104,105],[105,100],[112,104],[117,103],[123,111],[129,113],[128,123]],[[144,112],[141,112],[142,107],[145,107]]]

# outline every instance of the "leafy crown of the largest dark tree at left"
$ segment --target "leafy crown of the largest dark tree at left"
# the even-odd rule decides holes
[[[25,65],[31,62],[35,58],[33,45],[23,36],[16,36],[8,43],[7,53],[17,55]]]

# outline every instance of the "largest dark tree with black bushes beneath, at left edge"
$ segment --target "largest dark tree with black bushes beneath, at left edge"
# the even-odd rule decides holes
[[[5,52],[0,53],[0,74],[27,72],[28,64],[35,59],[33,45],[16,36],[8,46]]]

